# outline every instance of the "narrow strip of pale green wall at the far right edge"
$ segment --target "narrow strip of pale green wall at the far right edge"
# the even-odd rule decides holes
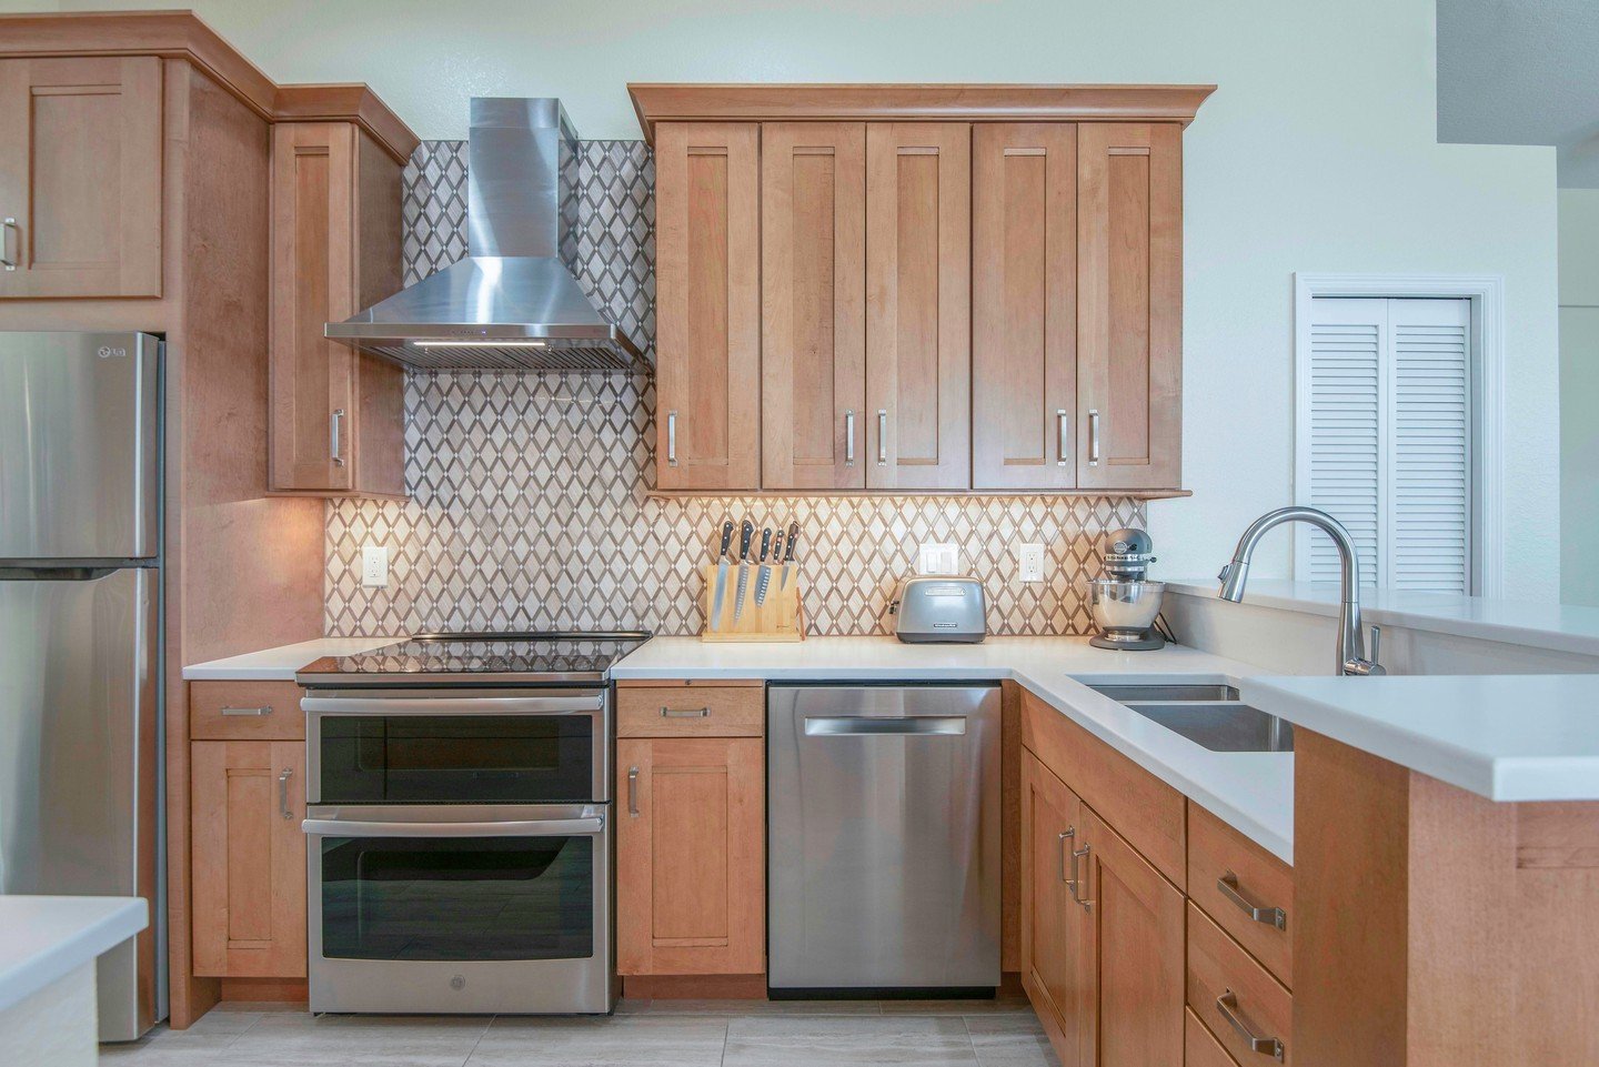
[[[1561,601],[1599,606],[1599,189],[1561,190]]]

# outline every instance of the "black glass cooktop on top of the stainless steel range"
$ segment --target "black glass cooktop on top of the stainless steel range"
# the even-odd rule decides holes
[[[301,669],[305,686],[414,683],[601,683],[611,665],[649,640],[641,630],[539,633],[419,633]]]

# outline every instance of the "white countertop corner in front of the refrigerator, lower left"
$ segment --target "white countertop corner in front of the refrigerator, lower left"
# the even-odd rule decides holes
[[[0,1011],[150,923],[136,896],[0,896]]]

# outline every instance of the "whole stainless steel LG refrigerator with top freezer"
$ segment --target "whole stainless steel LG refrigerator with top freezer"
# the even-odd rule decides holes
[[[166,1014],[161,347],[0,333],[0,893],[150,902],[102,1041]]]

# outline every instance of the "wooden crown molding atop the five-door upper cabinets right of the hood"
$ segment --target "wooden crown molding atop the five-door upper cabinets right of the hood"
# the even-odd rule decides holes
[[[1193,122],[1214,85],[630,83],[644,141],[662,122]]]

